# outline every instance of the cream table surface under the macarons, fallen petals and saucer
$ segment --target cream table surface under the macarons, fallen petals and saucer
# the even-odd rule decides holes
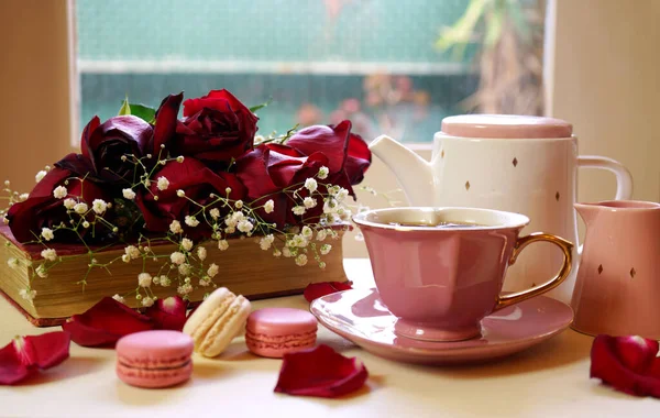
[[[354,287],[373,286],[366,260],[345,260]],[[302,296],[254,302],[307,309]],[[32,327],[0,300],[0,346]],[[248,352],[243,338],[217,359],[195,356],[193,378],[178,387],[141,389],[114,374],[114,351],[72,343],[70,359],[19,386],[0,386],[0,417],[651,417],[660,400],[612,391],[588,378],[592,338],[568,330],[493,363],[421,366],[377,358],[320,327],[318,340],[361,359],[367,385],[340,399],[273,392],[280,361]]]

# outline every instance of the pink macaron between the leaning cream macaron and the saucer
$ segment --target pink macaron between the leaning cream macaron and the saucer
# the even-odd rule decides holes
[[[301,309],[264,308],[248,317],[245,343],[256,355],[279,359],[315,346],[317,320]]]

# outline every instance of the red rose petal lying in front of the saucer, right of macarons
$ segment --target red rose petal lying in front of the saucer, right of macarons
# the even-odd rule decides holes
[[[284,355],[275,392],[332,398],[359,389],[367,376],[358,359],[345,358],[321,344]]]

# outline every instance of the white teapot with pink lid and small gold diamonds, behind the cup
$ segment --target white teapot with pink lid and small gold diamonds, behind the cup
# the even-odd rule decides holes
[[[613,172],[615,199],[630,199],[632,194],[630,173],[610,158],[579,156],[572,125],[559,119],[499,114],[446,118],[442,131],[433,138],[430,162],[386,135],[374,140],[370,148],[395,173],[411,206],[524,213],[531,219],[529,231],[556,234],[574,244],[579,167]],[[561,254],[551,245],[530,248],[510,267],[505,290],[532,287],[560,266]],[[569,302],[574,273],[575,268],[549,295]]]

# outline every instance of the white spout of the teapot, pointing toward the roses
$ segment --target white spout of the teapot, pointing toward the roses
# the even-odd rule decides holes
[[[387,135],[376,138],[369,148],[394,172],[411,206],[433,206],[430,163]]]

